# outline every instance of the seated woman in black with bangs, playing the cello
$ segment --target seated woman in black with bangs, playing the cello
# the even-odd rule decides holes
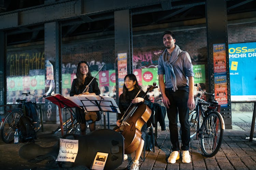
[[[137,93],[141,89],[137,78],[134,74],[127,74],[124,78],[124,88],[123,88],[123,93],[119,97],[119,102],[118,102],[118,107],[121,112],[121,114],[118,114],[118,120],[116,122],[117,126],[121,126],[120,119],[122,118],[124,112],[128,109],[130,104],[136,104],[143,102],[145,103],[151,110],[153,110],[153,103],[150,101],[150,99],[145,96],[145,98],[142,98],[144,92],[141,91],[138,96],[136,97]],[[136,98],[134,98],[136,97]],[[141,142],[139,144],[139,147],[135,151],[135,159],[133,160],[133,164],[131,165],[130,170],[139,170],[139,158],[143,150],[144,146],[144,141],[146,137],[146,129],[147,129],[147,124],[145,123],[141,129],[142,135],[141,135]]]

